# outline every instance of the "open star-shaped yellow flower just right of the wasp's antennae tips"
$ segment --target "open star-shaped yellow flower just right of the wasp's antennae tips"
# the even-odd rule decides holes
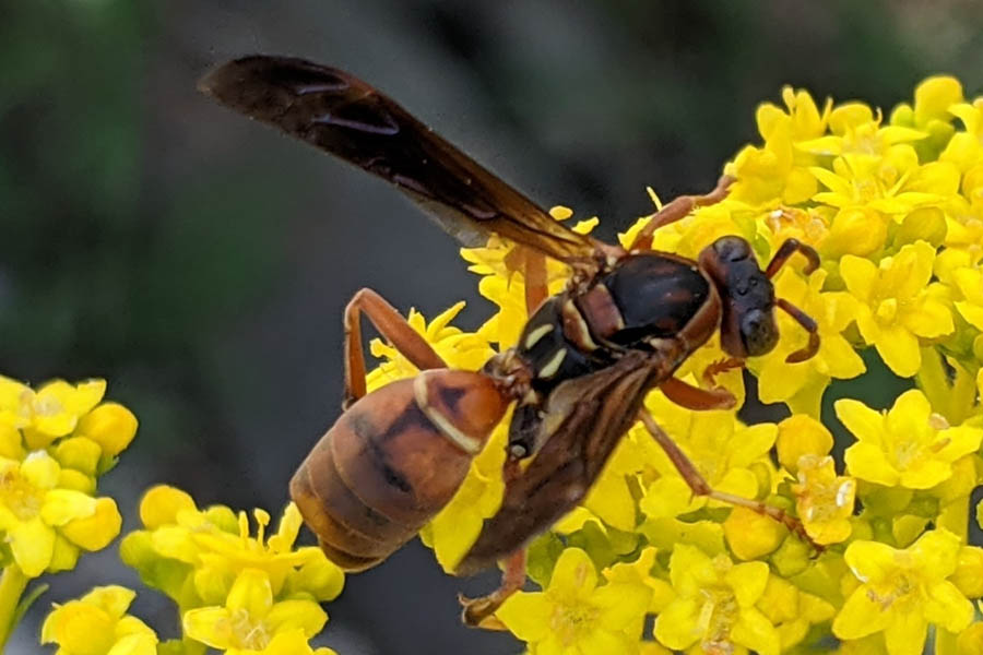
[[[928,284],[935,249],[925,241],[905,246],[880,267],[858,257],[840,261],[846,288],[860,301],[856,325],[892,371],[902,377],[917,372],[922,362],[919,337],[933,338],[954,330],[952,315],[936,297],[937,283]]]

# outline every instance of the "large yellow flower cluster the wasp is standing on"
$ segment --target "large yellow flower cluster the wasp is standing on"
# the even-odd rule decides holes
[[[820,349],[786,362],[807,335],[780,313],[775,350],[748,360],[760,400],[792,413],[778,424],[695,413],[659,391],[646,403],[711,486],[797,517],[822,551],[754,511],[692,498],[636,426],[583,504],[532,544],[529,573],[543,591],[516,594],[497,617],[535,655],[920,655],[929,633],[938,654],[983,653],[973,605],[983,549],[969,543],[970,495],[983,483],[983,98],[932,78],[886,118],[785,88],[782,106],[763,104],[756,118],[762,143],[726,165],[729,196],[659,229],[653,247],[696,259],[738,235],[767,262],[787,238],[813,246],[820,267],[805,275],[795,257],[774,284],[816,320]],[[411,321],[450,366],[476,369],[493,347],[516,343],[524,289],[505,265],[506,245],[462,254],[497,313],[475,333],[449,326],[460,306],[429,325]],[[566,272],[549,265],[556,291]],[[890,407],[838,401],[844,454],[821,401],[834,381],[867,373],[876,359],[858,352],[868,346],[915,389]],[[388,359],[372,385],[415,372],[380,343],[374,354]],[[724,358],[711,342],[677,376],[704,384],[702,372]],[[865,379],[877,374],[887,371]],[[741,371],[716,383],[744,400]],[[502,440],[500,430],[424,531],[448,570],[498,508]]]

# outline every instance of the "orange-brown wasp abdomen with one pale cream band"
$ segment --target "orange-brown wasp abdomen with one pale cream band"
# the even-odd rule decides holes
[[[372,567],[450,501],[506,407],[481,373],[440,369],[393,382],[328,430],[291,497],[332,561]]]

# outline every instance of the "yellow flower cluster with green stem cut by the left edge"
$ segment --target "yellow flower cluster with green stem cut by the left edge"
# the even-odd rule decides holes
[[[38,389],[0,376],[0,647],[47,588],[27,584],[73,569],[122,523],[96,483],[133,440],[137,418],[103,403],[106,382],[63,380]]]

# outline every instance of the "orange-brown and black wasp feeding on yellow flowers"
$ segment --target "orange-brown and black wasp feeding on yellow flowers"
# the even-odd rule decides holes
[[[771,283],[795,253],[804,255],[806,273],[815,270],[819,258],[809,246],[786,240],[763,270],[736,236],[718,239],[696,261],[651,249],[656,229],[719,202],[732,179],[704,195],[675,199],[621,248],[556,222],[395,102],[337,69],[252,56],[218,67],[199,87],[391,182],[465,246],[483,246],[492,235],[511,242],[510,261],[525,273],[531,315],[519,343],[479,371],[448,368],[375,291],[363,289],[348,303],[344,410],[291,481],[305,522],[340,567],[367,569],[412,539],[453,497],[510,406],[501,507],[455,570],[471,574],[505,560],[505,572],[494,593],[461,599],[470,626],[494,626],[495,610],[525,581],[525,546],[583,499],[637,420],[695,495],[749,507],[807,538],[782,510],[712,489],[643,405],[658,388],[687,408],[733,407],[734,396],[713,376],[774,347],[775,309],[809,334],[789,361],[819,347],[815,321],[775,298]],[[545,258],[572,270],[558,295],[547,294]],[[415,378],[366,393],[363,314],[421,370]],[[708,369],[707,384],[673,377],[718,332],[729,359]]]

